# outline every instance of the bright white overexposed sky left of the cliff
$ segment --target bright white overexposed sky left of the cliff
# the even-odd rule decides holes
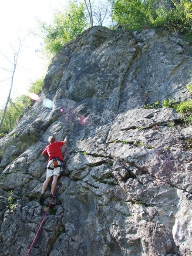
[[[13,80],[11,98],[27,95],[27,88],[32,81],[46,74],[45,61],[37,50],[42,40],[27,36],[37,28],[37,19],[51,23],[54,10],[62,10],[67,0],[6,0],[0,8],[0,108],[7,100],[10,90],[10,70],[13,68],[14,52],[17,52],[19,38],[23,47],[18,57],[18,64]],[[5,70],[6,69],[6,70]]]

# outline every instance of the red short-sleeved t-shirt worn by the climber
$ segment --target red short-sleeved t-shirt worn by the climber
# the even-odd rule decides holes
[[[51,158],[59,158],[61,161],[63,161],[63,156],[61,154],[61,147],[64,145],[63,141],[54,141],[50,143],[45,150],[43,151],[44,155],[49,156],[49,160]]]

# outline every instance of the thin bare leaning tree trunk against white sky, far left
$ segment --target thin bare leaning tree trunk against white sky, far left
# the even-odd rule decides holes
[[[9,101],[10,101],[10,94],[11,94],[11,91],[12,91],[12,88],[13,88],[14,74],[15,74],[15,70],[16,70],[16,67],[17,67],[18,56],[19,56],[19,53],[20,53],[20,50],[21,50],[21,40],[20,39],[19,39],[19,42],[20,43],[19,43],[19,47],[18,47],[17,52],[14,51],[14,63],[12,63],[10,60],[8,60],[11,64],[13,64],[13,73],[12,73],[12,76],[11,76],[10,91],[9,91],[9,94],[8,94],[8,97],[7,97],[7,101],[6,101],[6,104],[5,104],[5,108],[3,110],[3,115],[2,115],[1,121],[0,121],[0,129],[1,129],[2,125],[3,125],[3,120],[5,118],[5,114],[6,114],[6,111],[7,111],[7,106],[8,106]]]

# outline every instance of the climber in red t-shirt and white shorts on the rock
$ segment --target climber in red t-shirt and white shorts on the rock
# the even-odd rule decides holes
[[[41,195],[40,195],[40,203],[43,203],[44,193],[47,189],[47,186],[53,176],[53,181],[51,183],[51,197],[53,197],[55,189],[57,188],[57,179],[59,178],[61,172],[63,171],[63,156],[61,153],[61,147],[67,144],[67,138],[64,141],[56,141],[54,136],[50,136],[48,138],[49,145],[42,152],[42,155],[48,155],[48,164],[47,164],[47,174],[46,180],[44,181]]]

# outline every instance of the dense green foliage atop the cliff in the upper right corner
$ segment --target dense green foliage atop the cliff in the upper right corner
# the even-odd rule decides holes
[[[140,30],[164,27],[181,32],[192,41],[192,2],[172,0],[172,8],[155,0],[113,0],[112,19],[123,28]]]

